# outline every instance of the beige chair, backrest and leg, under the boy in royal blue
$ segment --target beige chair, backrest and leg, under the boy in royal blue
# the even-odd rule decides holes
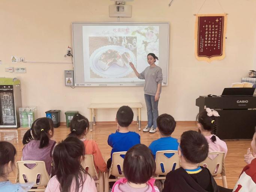
[[[109,171],[105,172],[105,192],[109,191],[109,182],[116,182],[120,177],[124,177],[123,164],[126,151],[115,152],[112,154],[112,164]],[[116,179],[109,179],[113,175]]]

